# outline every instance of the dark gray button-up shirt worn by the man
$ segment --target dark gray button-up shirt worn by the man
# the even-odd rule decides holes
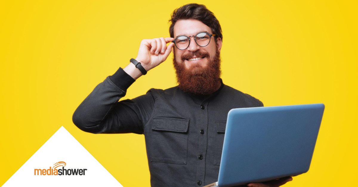
[[[144,134],[152,187],[204,186],[218,179],[226,119],[233,108],[263,107],[223,84],[209,95],[178,86],[125,99],[135,80],[122,68],[87,96],[73,123],[90,133]]]

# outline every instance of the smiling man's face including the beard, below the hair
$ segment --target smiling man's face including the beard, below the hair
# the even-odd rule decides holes
[[[212,33],[211,28],[201,21],[189,19],[178,20],[174,25],[174,38],[180,35],[190,37],[189,47],[179,50],[174,46],[174,68],[179,88],[185,92],[203,95],[215,91],[220,83],[220,50],[221,38],[215,41],[214,36],[207,46],[195,43],[194,36],[200,32]],[[192,58],[202,58],[190,60]]]

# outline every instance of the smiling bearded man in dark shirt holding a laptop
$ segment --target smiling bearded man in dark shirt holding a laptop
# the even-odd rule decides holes
[[[152,187],[205,186],[218,179],[229,110],[263,104],[223,84],[222,29],[211,11],[187,4],[174,10],[170,22],[170,37],[142,40],[137,57],[96,86],[73,123],[90,133],[144,134]],[[119,101],[172,50],[177,86]],[[291,179],[247,185],[280,186]]]

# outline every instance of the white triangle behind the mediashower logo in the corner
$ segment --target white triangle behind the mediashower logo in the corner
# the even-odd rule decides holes
[[[35,169],[47,170],[60,161],[66,162],[64,169],[87,170],[82,175],[34,174]],[[3,185],[10,186],[123,187],[63,126]]]

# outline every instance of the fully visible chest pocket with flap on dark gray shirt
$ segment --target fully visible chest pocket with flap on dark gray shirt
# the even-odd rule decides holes
[[[153,118],[152,162],[187,164],[189,119]]]

